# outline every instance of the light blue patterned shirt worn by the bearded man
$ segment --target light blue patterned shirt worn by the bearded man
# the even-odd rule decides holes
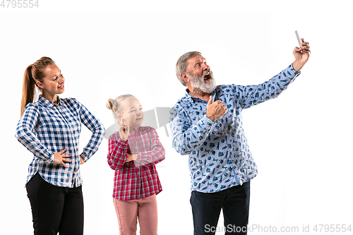
[[[211,121],[206,116],[208,102],[189,95],[173,107],[172,145],[181,155],[189,155],[191,191],[212,193],[241,185],[258,174],[247,143],[241,112],[273,99],[300,73],[292,65],[259,85],[217,85],[213,102],[221,100],[228,112]]]

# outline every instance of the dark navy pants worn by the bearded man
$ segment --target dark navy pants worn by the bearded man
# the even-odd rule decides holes
[[[216,193],[191,192],[193,234],[246,234],[249,219],[250,181]],[[224,227],[217,227],[223,210]]]

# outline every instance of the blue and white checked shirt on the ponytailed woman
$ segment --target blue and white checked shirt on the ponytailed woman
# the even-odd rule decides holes
[[[81,122],[92,131],[92,136],[79,154]],[[37,102],[28,104],[16,128],[18,141],[34,155],[26,184],[39,172],[54,186],[73,188],[75,182],[80,186],[80,157],[86,162],[98,150],[104,131],[102,123],[74,98],[59,98],[58,104],[54,104],[40,96]],[[64,154],[72,155],[68,158],[72,162],[65,162],[68,168],[51,164],[54,154],[64,149]]]

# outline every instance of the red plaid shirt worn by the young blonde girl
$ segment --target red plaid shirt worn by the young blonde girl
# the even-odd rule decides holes
[[[127,154],[137,154],[136,161],[126,162]],[[164,159],[164,147],[157,132],[138,126],[128,140],[119,131],[109,137],[108,164],[115,170],[113,198],[139,200],[162,191],[155,164]]]

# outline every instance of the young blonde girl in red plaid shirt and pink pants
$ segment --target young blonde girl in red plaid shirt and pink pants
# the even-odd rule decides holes
[[[156,195],[162,191],[155,164],[164,159],[164,147],[152,127],[140,126],[143,112],[133,95],[109,99],[119,131],[109,138],[108,164],[115,170],[113,200],[121,235],[157,234]]]

